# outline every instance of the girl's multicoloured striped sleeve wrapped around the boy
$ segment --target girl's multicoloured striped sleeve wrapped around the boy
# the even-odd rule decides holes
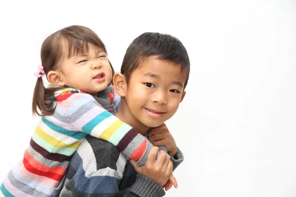
[[[147,162],[153,145],[129,125],[104,109],[89,94],[76,93],[64,100],[63,113],[69,127],[111,142],[119,151],[137,161],[138,166]]]

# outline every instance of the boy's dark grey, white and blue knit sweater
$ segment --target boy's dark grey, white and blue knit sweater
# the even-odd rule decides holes
[[[182,152],[171,157],[173,169],[184,160]],[[164,190],[137,174],[128,157],[110,142],[87,136],[70,162],[60,197],[162,197]]]

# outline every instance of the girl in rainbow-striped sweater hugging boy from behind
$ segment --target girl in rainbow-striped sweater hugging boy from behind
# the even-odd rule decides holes
[[[105,45],[96,33],[82,26],[52,33],[42,44],[41,63],[32,103],[41,120],[23,160],[1,184],[4,196],[53,196],[87,134],[111,142],[137,165],[146,163],[153,145],[112,116],[120,99],[111,85],[114,70]],[[50,82],[47,88],[43,75]]]

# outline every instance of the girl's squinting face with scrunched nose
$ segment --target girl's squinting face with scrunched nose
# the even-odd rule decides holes
[[[73,55],[68,59],[68,49],[56,70],[60,82],[55,85],[68,86],[96,95],[104,90],[112,79],[112,69],[107,54],[97,46],[88,45],[88,52]]]

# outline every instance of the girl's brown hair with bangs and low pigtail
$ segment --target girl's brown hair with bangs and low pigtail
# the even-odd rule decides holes
[[[42,43],[40,55],[45,75],[49,71],[58,68],[63,54],[63,44],[68,44],[68,59],[73,55],[88,52],[88,44],[99,47],[107,54],[102,40],[89,28],[74,25],[61,29],[49,35]],[[113,76],[114,69],[111,63],[110,66]],[[53,106],[54,98],[52,99],[51,96],[54,95],[54,92],[62,88],[64,87],[45,88],[42,77],[37,78],[32,101],[33,115],[45,116],[53,114],[55,106]],[[37,108],[41,111],[41,114],[37,111]]]

